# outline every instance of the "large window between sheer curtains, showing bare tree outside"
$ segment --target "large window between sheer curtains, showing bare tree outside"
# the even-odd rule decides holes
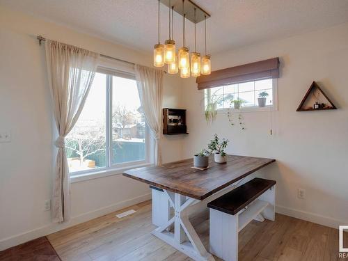
[[[147,142],[134,75],[99,70],[65,138],[70,175],[145,163]]]

